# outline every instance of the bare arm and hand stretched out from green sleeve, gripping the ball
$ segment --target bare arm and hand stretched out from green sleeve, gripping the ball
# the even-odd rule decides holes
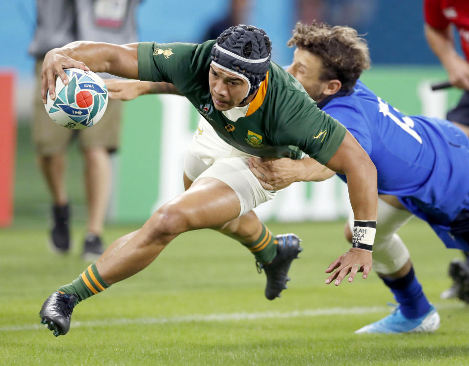
[[[44,57],[41,71],[41,96],[47,102],[47,89],[55,99],[55,77],[68,83],[64,68],[77,67],[94,72],[108,72],[129,79],[138,79],[138,43],[111,44],[77,41],[64,47],[54,48]]]

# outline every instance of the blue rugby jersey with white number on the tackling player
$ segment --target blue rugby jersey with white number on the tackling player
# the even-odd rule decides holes
[[[449,232],[450,222],[469,208],[469,139],[460,129],[438,118],[406,116],[360,81],[318,107],[341,121],[368,153],[379,194],[398,196],[447,247],[469,250]]]

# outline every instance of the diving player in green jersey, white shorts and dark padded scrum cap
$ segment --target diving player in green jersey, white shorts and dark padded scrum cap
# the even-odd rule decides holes
[[[41,322],[54,335],[69,330],[79,301],[144,269],[179,234],[201,228],[218,229],[251,249],[267,275],[265,295],[275,299],[300,251],[299,239],[293,234],[273,237],[252,212],[276,195],[250,171],[252,156],[299,159],[305,153],[346,175],[354,244],[329,266],[336,270],[326,283],[339,285],[348,273],[351,282],[359,271],[367,277],[376,231],[376,169],[352,135],[270,59],[265,32],[246,25],[202,44],[74,42],[47,53],[44,101],[47,89],[55,98],[56,76],[66,83],[64,68],[79,67],[148,81],[150,87],[152,82],[171,83],[203,116],[185,161],[187,190],[141,229],[115,240],[76,280],[44,302]]]

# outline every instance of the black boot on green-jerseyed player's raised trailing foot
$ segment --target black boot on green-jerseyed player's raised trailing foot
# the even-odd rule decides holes
[[[274,300],[280,297],[280,292],[286,289],[287,281],[290,280],[288,270],[293,259],[298,258],[298,254],[303,251],[299,246],[301,239],[295,234],[277,235],[277,255],[268,264],[256,262],[257,270],[260,273],[264,270],[267,276],[265,286],[265,297]]]

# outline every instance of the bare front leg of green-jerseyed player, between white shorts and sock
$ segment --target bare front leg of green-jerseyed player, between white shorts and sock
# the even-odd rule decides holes
[[[179,234],[220,228],[239,210],[239,199],[228,185],[201,178],[158,209],[140,230],[114,241],[96,261],[96,268],[108,285],[124,280],[147,267]]]

